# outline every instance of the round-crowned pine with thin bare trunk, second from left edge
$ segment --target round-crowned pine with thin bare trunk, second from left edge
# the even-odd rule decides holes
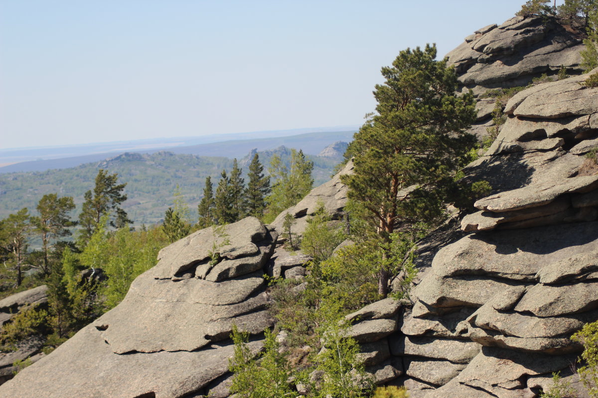
[[[49,253],[54,248],[51,244],[52,239],[71,235],[69,227],[75,225],[71,221],[69,212],[75,208],[75,203],[71,196],[59,198],[56,193],[44,195],[37,205],[39,217],[31,217],[31,223],[35,230],[41,236],[42,252],[44,254],[44,264],[42,271],[49,275],[51,267],[49,264]]]

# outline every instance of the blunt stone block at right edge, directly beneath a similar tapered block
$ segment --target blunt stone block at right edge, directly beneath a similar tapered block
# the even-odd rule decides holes
[[[594,310],[598,308],[597,289],[598,281],[563,286],[535,285],[521,298],[515,311],[549,317]]]

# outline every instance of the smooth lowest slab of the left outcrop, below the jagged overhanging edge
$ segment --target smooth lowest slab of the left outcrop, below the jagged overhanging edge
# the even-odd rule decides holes
[[[261,343],[250,347],[258,350]],[[226,374],[233,348],[227,344],[193,352],[119,355],[90,325],[3,384],[0,397],[130,398],[151,393],[155,398],[180,397]]]

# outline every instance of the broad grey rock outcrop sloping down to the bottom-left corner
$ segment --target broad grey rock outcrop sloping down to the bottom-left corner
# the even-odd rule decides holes
[[[276,239],[249,217],[167,246],[117,307],[2,385],[0,397],[206,394],[228,372],[233,323],[254,335],[272,325],[262,276]]]

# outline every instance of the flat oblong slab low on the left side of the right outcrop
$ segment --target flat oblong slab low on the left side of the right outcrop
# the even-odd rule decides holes
[[[389,338],[389,343],[390,353],[394,356],[444,359],[453,363],[468,363],[480,352],[479,344],[463,340],[393,336]]]

